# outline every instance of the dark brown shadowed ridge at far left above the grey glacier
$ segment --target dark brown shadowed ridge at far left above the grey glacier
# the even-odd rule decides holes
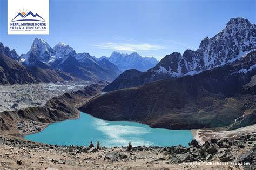
[[[0,84],[24,84],[74,80],[68,73],[58,70],[25,67],[21,63],[0,53]]]

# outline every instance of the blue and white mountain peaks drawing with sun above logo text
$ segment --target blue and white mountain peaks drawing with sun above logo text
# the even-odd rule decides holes
[[[16,22],[16,21],[41,21],[41,22],[45,22],[44,18],[39,16],[37,13],[34,14],[31,11],[29,11],[27,13],[26,12],[19,12],[18,15],[16,15],[16,17],[14,17],[14,19],[12,19],[11,22]]]

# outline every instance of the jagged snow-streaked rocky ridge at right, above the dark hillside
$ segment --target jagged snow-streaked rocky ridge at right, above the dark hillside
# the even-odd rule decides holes
[[[217,35],[204,38],[196,51],[186,50],[183,55],[173,52],[166,55],[152,69],[141,74],[125,71],[129,83],[119,77],[104,91],[134,87],[152,81],[198,74],[227,63],[232,63],[246,53],[256,49],[256,26],[244,18],[232,18]],[[134,81],[134,84],[131,83]]]

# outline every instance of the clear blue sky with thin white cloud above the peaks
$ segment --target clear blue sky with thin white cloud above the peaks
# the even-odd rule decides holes
[[[49,35],[7,35],[7,0],[1,0],[0,42],[19,54],[38,37],[52,47],[63,42],[96,57],[136,51],[161,59],[196,50],[231,18],[255,23],[255,11],[255,0],[50,0]]]

